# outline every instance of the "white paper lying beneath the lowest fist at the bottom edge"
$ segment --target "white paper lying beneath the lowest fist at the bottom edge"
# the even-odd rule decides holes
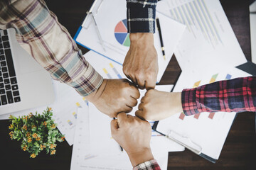
[[[71,170],[132,169],[127,153],[122,152],[118,143],[112,138],[111,120],[112,118],[100,113],[92,103],[89,103],[88,108],[78,108]],[[161,136],[151,137],[151,149],[161,168],[167,169],[168,147],[176,145],[177,151],[183,150],[183,147],[159,137]],[[158,145],[156,142],[159,142]]]

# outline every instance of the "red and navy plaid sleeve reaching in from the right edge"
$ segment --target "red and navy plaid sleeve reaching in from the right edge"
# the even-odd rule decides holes
[[[255,112],[256,77],[243,77],[194,89],[183,89],[183,112],[194,115],[201,112]]]

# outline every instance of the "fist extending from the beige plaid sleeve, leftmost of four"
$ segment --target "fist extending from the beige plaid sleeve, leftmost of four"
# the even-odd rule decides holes
[[[104,79],[100,88],[86,98],[99,111],[114,118],[117,113],[132,111],[139,95],[137,87],[127,79]]]

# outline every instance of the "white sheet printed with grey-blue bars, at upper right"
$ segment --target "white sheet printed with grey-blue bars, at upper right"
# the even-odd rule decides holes
[[[218,0],[163,0],[156,11],[186,24],[175,56],[182,71],[235,67],[246,61]]]

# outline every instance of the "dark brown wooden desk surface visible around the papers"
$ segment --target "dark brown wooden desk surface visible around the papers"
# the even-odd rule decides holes
[[[92,0],[46,0],[48,8],[53,11],[65,26],[70,35],[74,36],[82,23]],[[250,53],[249,1],[221,0],[221,4],[238,38],[247,60]],[[88,50],[81,47],[82,52]],[[169,63],[161,84],[174,84],[181,72],[175,57]],[[27,152],[21,151],[20,144],[9,137],[9,121],[0,120],[0,169],[70,169],[72,147],[67,142],[58,143],[54,156],[39,154],[30,159]],[[255,113],[240,113],[235,119],[227,140],[216,164],[212,164],[196,154],[185,152],[169,152],[168,169],[256,169],[256,135]]]

